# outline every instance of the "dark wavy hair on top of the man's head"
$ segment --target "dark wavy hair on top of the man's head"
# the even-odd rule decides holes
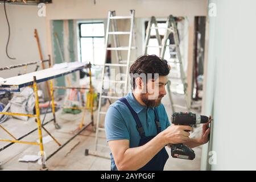
[[[156,55],[144,55],[139,57],[130,67],[131,85],[133,89],[136,88],[134,75],[141,75],[142,73],[148,74],[152,73],[152,78],[154,78],[154,73],[158,73],[159,76],[167,76],[170,73],[170,65],[164,59]],[[147,80],[146,80],[147,81]]]

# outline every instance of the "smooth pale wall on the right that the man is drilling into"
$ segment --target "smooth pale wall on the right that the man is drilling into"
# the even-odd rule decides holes
[[[256,1],[216,0],[210,17],[205,113],[213,110],[212,170],[255,170]],[[213,108],[212,108],[213,107]]]

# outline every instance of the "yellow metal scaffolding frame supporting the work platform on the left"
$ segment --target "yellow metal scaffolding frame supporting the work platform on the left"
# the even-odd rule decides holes
[[[49,56],[49,60],[44,60],[44,61],[48,61],[49,63],[49,68],[51,67],[51,57]],[[1,70],[5,70],[5,69],[11,69],[11,68],[17,68],[17,67],[27,67],[27,65],[32,65],[32,64],[38,64],[39,62],[44,62],[44,61],[38,61],[38,62],[34,62],[34,63],[28,63],[28,64],[20,64],[20,65],[15,65],[15,66],[10,66],[10,67],[5,67],[5,68],[0,68]],[[86,65],[86,68],[89,68],[89,78],[90,78],[90,87],[89,88],[75,88],[75,89],[88,89],[89,90],[89,95],[90,97],[93,96],[93,88],[92,88],[92,73],[91,73],[91,64],[89,63],[88,65]],[[31,86],[31,85],[28,85]],[[34,96],[35,96],[35,110],[36,110],[36,114],[22,114],[22,113],[9,113],[9,112],[0,112],[0,114],[3,115],[20,115],[20,116],[26,116],[26,117],[34,117],[35,122],[37,123],[37,129],[38,130],[38,135],[39,135],[39,142],[28,142],[28,141],[23,141],[20,140],[24,137],[26,137],[27,135],[31,134],[32,132],[34,132],[35,130],[30,131],[30,133],[24,135],[23,137],[20,138],[16,138],[14,137],[13,134],[11,134],[5,127],[3,127],[2,125],[0,125],[1,129],[3,129],[11,138],[13,138],[13,140],[10,139],[0,139],[1,142],[9,142],[10,144],[1,148],[0,152],[2,150],[5,150],[5,148],[9,147],[11,144],[13,143],[22,143],[22,144],[30,144],[30,145],[38,145],[40,146],[40,156],[41,156],[41,161],[42,161],[42,169],[43,170],[47,170],[46,167],[46,160],[48,160],[49,158],[51,158],[54,154],[56,154],[57,151],[59,151],[61,148],[63,148],[67,143],[69,143],[73,138],[75,138],[77,135],[79,135],[81,133],[81,131],[83,131],[84,129],[86,129],[87,126],[89,126],[90,124],[92,124],[93,126],[93,100],[89,100],[89,102],[91,102],[89,105],[91,107],[82,107],[82,109],[84,109],[84,113],[82,114],[82,120],[81,123],[79,125],[79,130],[77,132],[77,134],[75,134],[71,139],[69,139],[67,142],[65,142],[64,144],[60,144],[56,138],[54,138],[51,133],[49,133],[48,130],[46,130],[46,128],[44,127],[44,125],[46,125],[47,123],[53,121],[55,128],[56,129],[60,129],[60,126],[57,124],[56,122],[56,117],[55,117],[55,104],[54,104],[54,89],[74,89],[72,87],[53,87],[53,82],[52,80],[50,80],[50,88],[51,88],[51,102],[52,102],[52,114],[53,114],[53,119],[51,121],[48,121],[47,123],[45,123],[44,125],[42,125],[41,120],[40,120],[40,109],[39,109],[39,97],[38,97],[38,85],[36,82],[36,77],[33,77],[33,90],[34,90]],[[75,108],[75,107],[66,107],[66,108]],[[77,107],[79,108],[79,107]],[[80,108],[81,109],[81,108]],[[85,110],[86,109],[90,109],[90,114],[91,114],[91,122],[89,123],[89,125],[84,125],[84,117],[85,117]],[[48,158],[46,159],[46,157],[44,156],[44,146],[43,146],[43,137],[42,137],[42,129],[44,131],[46,131],[46,133],[57,143],[58,146],[60,146],[55,152],[53,152],[51,155],[48,156]]]

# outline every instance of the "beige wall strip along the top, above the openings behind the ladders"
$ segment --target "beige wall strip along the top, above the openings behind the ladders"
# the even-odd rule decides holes
[[[152,15],[166,18],[175,16],[204,16],[207,14],[207,0],[53,0],[47,5],[48,19],[97,19],[106,18],[109,10],[117,15],[129,15],[135,10],[137,18]]]

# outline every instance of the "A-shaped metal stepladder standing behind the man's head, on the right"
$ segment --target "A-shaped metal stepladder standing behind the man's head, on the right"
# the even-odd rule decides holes
[[[152,24],[154,24],[154,27],[152,27]],[[152,47],[152,46],[148,46],[148,42],[151,36],[151,30],[155,29],[156,30],[156,39],[158,40],[158,46],[155,46],[156,48],[159,48],[159,52],[160,52],[160,57],[164,57],[164,53],[166,52],[166,47],[172,47],[175,48],[175,52],[170,52],[170,56],[171,55],[176,55],[176,59],[172,60],[172,61],[168,61],[168,63],[174,64],[176,65],[176,69],[179,69],[179,77],[170,77],[169,81],[167,83],[167,92],[168,92],[168,96],[170,98],[170,102],[171,102],[171,107],[172,107],[172,111],[175,112],[175,107],[179,107],[182,109],[185,109],[187,111],[190,110],[189,105],[188,105],[188,98],[187,98],[187,78],[185,76],[184,73],[184,68],[183,68],[183,64],[182,64],[182,59],[181,59],[181,53],[180,53],[180,47],[179,47],[179,38],[178,38],[178,33],[177,33],[177,26],[176,26],[176,22],[174,19],[174,16],[170,15],[167,18],[166,21],[166,27],[164,27],[165,32],[164,32],[164,36],[162,39],[162,42],[159,41],[160,39],[160,35],[159,35],[159,27],[157,26],[157,22],[154,16],[151,17],[150,22],[148,22],[148,27],[147,27],[147,31],[146,31],[146,39],[145,39],[145,44],[144,44],[144,55],[147,54],[147,48],[148,47]],[[167,45],[167,40],[170,34],[174,34],[174,42],[175,44],[170,44]],[[181,105],[177,105],[174,104],[174,101],[172,99],[172,92],[171,92],[171,83],[174,80],[180,80],[181,84],[183,85],[183,92],[184,92],[184,98],[185,98],[185,106],[181,106]]]

